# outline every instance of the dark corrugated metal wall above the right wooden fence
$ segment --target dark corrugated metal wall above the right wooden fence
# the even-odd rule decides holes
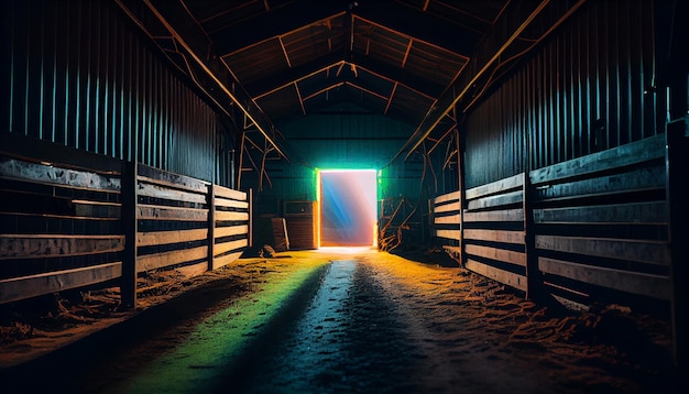
[[[663,132],[654,3],[590,1],[500,84],[464,125],[466,186]],[[490,157],[490,160],[489,160]]]

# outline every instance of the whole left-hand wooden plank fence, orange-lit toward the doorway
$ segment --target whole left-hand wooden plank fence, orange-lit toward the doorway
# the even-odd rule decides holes
[[[0,304],[119,282],[131,306],[142,272],[196,275],[249,245],[245,193],[11,133],[2,139]]]

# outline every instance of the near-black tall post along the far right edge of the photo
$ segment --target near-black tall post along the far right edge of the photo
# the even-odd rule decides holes
[[[657,3],[657,4],[656,4]],[[654,2],[654,37],[663,62],[657,62],[659,103],[665,100],[667,109],[666,136],[666,206],[668,218],[668,243],[670,248],[670,275],[672,282],[671,324],[672,351],[677,375],[677,392],[689,390],[689,234],[687,220],[687,176],[689,176],[689,53],[686,36],[689,26],[683,18],[689,11],[687,1]],[[676,21],[672,24],[665,21]],[[681,20],[681,22],[679,22]],[[679,22],[679,23],[678,23]],[[666,90],[667,89],[667,90]],[[658,106],[663,108],[663,106]],[[663,113],[658,113],[663,116]]]

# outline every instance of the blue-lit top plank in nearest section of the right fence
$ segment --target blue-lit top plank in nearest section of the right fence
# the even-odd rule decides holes
[[[594,174],[601,171],[665,157],[665,135],[658,134],[611,150],[558,163],[529,173],[533,185]]]

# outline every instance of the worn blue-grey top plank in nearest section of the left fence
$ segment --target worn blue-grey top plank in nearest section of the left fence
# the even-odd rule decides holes
[[[0,160],[0,177],[87,190],[120,193],[121,189],[119,175],[101,175],[8,158]]]

